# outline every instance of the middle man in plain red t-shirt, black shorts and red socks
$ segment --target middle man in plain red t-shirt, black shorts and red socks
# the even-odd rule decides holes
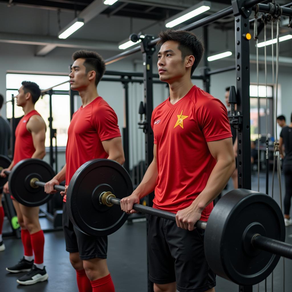
[[[104,61],[98,53],[90,51],[77,51],[72,57],[71,89],[79,91],[82,106],[73,114],[68,129],[66,164],[46,183],[45,190],[52,193],[53,186],[66,179],[66,191],[61,192],[64,195],[63,228],[79,291],[113,292],[106,261],[107,236],[91,237],[75,228],[68,218],[65,201],[67,186],[82,164],[94,158],[108,158],[123,164],[124,151],[117,115],[96,89],[105,72]]]

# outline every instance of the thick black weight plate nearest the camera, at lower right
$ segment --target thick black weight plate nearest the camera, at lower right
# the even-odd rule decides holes
[[[244,237],[247,230],[285,240],[283,214],[274,199],[251,190],[233,190],[218,201],[210,214],[204,249],[211,269],[239,285],[263,281],[280,259],[253,248]]]

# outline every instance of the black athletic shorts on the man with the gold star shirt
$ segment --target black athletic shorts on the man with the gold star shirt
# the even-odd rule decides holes
[[[180,292],[203,292],[216,285],[204,253],[204,230],[184,230],[150,215],[147,237],[149,279],[156,284],[176,281]]]

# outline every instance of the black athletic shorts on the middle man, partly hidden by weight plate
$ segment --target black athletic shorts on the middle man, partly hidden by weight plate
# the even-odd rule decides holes
[[[63,202],[62,223],[66,251],[69,253],[79,252],[81,260],[107,258],[107,236],[93,237],[78,230],[69,219],[65,202]]]

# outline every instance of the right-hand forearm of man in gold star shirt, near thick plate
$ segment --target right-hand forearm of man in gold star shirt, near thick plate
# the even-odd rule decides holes
[[[230,159],[230,161],[218,160],[211,172],[206,187],[193,201],[192,205],[194,208],[200,212],[203,211],[222,192],[234,169],[235,159]]]

